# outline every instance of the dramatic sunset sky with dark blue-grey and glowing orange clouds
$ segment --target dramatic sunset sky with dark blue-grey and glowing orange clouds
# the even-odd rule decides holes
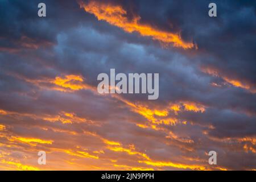
[[[256,3],[210,2],[0,1],[0,169],[256,170]],[[111,68],[159,98],[99,94]]]

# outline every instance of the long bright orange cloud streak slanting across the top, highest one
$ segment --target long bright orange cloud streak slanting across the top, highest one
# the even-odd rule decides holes
[[[110,3],[90,1],[89,3],[79,2],[80,7],[90,14],[94,14],[98,20],[105,20],[113,26],[122,28],[124,31],[132,33],[138,32],[141,36],[149,36],[153,40],[158,40],[164,46],[172,44],[174,47],[184,49],[193,48],[193,43],[184,42],[179,34],[158,30],[148,24],[142,24],[140,16],[134,16],[131,20],[127,18],[127,11],[122,6]]]

